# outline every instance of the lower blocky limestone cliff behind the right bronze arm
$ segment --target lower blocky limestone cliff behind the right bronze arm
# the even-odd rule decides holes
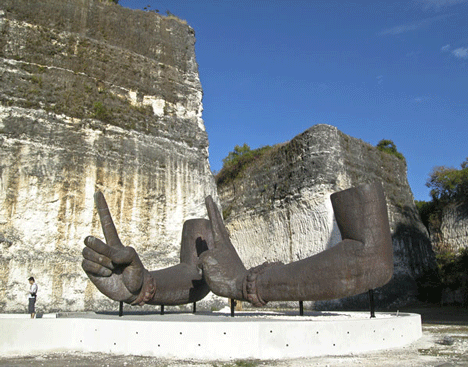
[[[388,306],[415,296],[415,279],[435,265],[404,161],[335,127],[316,125],[273,147],[242,177],[218,185],[218,194],[233,245],[250,267],[300,260],[339,242],[330,195],[375,180],[383,183],[394,246],[394,277],[376,295],[378,304]],[[366,297],[315,306],[365,307]]]

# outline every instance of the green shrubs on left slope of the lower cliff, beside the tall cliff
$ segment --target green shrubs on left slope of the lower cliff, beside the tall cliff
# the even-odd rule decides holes
[[[220,185],[233,181],[247,166],[270,149],[271,147],[268,145],[254,150],[251,150],[245,143],[243,146],[236,145],[234,150],[229,152],[228,156],[223,159],[223,168],[215,177],[216,184]]]

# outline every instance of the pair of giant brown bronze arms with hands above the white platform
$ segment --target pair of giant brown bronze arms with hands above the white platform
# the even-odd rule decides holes
[[[186,221],[181,263],[144,269],[124,247],[101,193],[95,195],[106,243],[85,239],[83,269],[108,297],[131,304],[176,305],[218,296],[261,307],[269,301],[342,298],[386,284],[393,274],[393,249],[382,185],[365,184],[331,195],[342,241],[290,264],[265,263],[247,270],[232,245],[213,199],[205,199],[210,220]]]

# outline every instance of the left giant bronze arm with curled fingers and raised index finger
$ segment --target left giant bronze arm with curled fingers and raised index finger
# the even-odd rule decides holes
[[[94,196],[106,243],[88,236],[82,267],[107,297],[131,304],[179,305],[196,302],[209,293],[198,256],[213,247],[210,222],[184,223],[180,264],[149,272],[132,247],[123,246],[102,193]]]

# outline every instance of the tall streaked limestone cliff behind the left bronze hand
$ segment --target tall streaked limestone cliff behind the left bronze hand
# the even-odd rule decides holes
[[[109,1],[0,4],[0,312],[116,308],[81,269],[102,190],[150,270],[206,217],[208,163],[191,27]]]

